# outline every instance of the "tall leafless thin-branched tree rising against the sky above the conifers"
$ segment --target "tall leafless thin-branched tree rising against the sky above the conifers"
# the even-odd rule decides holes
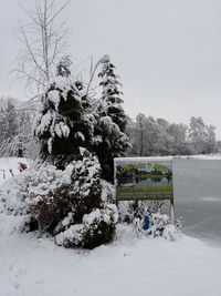
[[[42,89],[53,75],[55,64],[66,54],[70,30],[59,18],[67,3],[56,8],[55,0],[35,0],[34,10],[27,10],[20,4],[30,21],[20,24],[15,31],[22,50],[14,71],[17,79],[25,81],[27,88]]]

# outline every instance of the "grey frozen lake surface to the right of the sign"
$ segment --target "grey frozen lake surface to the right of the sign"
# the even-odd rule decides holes
[[[173,174],[182,231],[221,246],[221,160],[175,160]]]

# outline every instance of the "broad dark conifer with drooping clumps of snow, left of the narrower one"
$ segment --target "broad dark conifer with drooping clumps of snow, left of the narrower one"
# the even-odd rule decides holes
[[[36,118],[34,134],[41,143],[41,157],[57,169],[75,160],[78,147],[90,149],[93,139],[92,114],[86,113],[88,100],[83,84],[72,82],[67,60],[61,60],[57,75],[42,95],[43,109]]]

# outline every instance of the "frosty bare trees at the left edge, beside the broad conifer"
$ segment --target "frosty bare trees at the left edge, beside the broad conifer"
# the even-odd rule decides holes
[[[32,133],[35,104],[0,98],[0,156],[38,156],[39,146]]]

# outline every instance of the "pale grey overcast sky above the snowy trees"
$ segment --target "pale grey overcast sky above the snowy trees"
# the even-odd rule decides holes
[[[33,7],[34,0],[20,2]],[[63,18],[73,28],[75,63],[110,55],[131,118],[141,112],[189,123],[202,116],[221,139],[220,0],[71,0]],[[18,1],[0,0],[0,95],[27,99],[8,75],[20,47],[11,33],[19,19],[25,22]]]

